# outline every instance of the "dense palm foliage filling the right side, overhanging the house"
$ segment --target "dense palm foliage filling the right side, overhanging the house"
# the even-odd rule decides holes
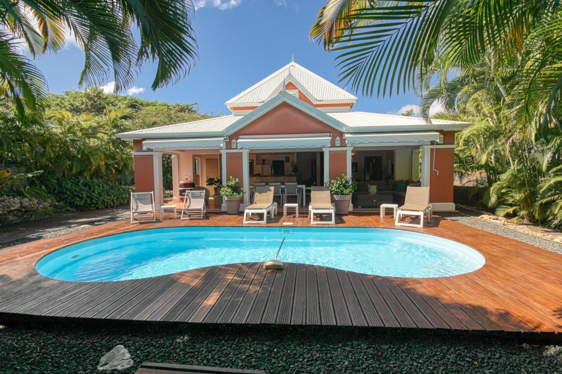
[[[562,4],[557,0],[329,0],[311,38],[365,95],[439,102],[473,122],[457,135],[457,172],[486,176],[498,215],[562,225]]]

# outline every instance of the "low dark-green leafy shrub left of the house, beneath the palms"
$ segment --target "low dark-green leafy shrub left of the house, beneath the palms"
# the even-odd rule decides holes
[[[129,188],[103,179],[71,178],[53,186],[53,195],[58,201],[80,210],[103,209],[127,205]]]

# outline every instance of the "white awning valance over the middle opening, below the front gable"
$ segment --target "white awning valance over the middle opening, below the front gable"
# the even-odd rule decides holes
[[[294,135],[241,135],[238,138],[238,148],[321,148],[329,147],[331,140],[332,135],[329,133]]]

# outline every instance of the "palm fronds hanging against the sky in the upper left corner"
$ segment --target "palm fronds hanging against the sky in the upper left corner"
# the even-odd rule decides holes
[[[128,87],[146,61],[156,62],[152,89],[178,81],[197,55],[189,0],[11,1],[0,3],[0,97],[15,104],[20,121],[39,118],[47,83],[25,57],[57,53],[69,33],[84,49],[80,86],[110,74],[115,91]],[[133,30],[140,37],[135,39]]]

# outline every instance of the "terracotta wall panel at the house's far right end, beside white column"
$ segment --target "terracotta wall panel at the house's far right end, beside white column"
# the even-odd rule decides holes
[[[433,156],[435,156],[434,167]],[[429,163],[429,201],[453,202],[455,150],[453,148],[432,149]],[[433,170],[433,168],[437,169],[439,173]]]

